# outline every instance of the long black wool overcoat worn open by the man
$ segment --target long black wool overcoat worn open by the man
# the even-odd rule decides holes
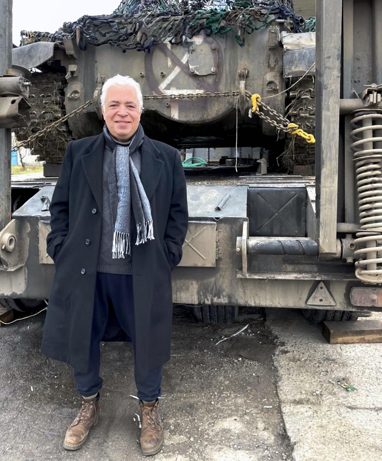
[[[49,208],[47,253],[56,272],[41,352],[82,372],[88,371],[102,232],[104,147],[103,134],[69,142]],[[145,136],[141,182],[154,229],[154,240],[131,249],[135,372],[139,366],[138,375],[144,376],[170,359],[171,271],[182,258],[188,228],[186,181],[178,151]],[[135,242],[134,232],[131,241]],[[108,324],[104,339],[123,339],[119,325]]]

